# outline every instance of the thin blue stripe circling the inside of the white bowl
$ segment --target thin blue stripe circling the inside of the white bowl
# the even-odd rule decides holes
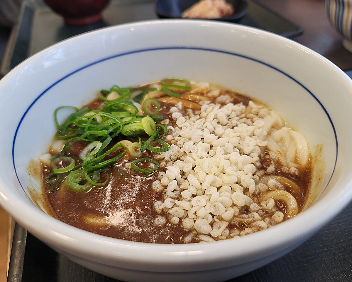
[[[335,130],[335,126],[331,120],[331,117],[330,115],[328,114],[328,112],[326,111],[326,109],[324,108],[324,106],[322,105],[322,103],[319,101],[318,98],[315,97],[315,95],[310,92],[308,90],[307,87],[305,87],[303,84],[301,84],[300,82],[298,82],[296,79],[294,79],[292,76],[288,75],[287,73],[281,71],[280,69],[274,67],[274,66],[271,66],[269,65],[268,63],[265,63],[265,62],[262,62],[262,61],[259,61],[257,59],[253,59],[251,57],[248,57],[248,56],[244,56],[244,55],[241,55],[241,54],[237,54],[237,53],[232,53],[232,52],[227,52],[227,51],[222,51],[222,50],[216,50],[216,49],[208,49],[208,48],[198,48],[198,47],[159,47],[159,48],[150,48],[150,49],[142,49],[142,50],[136,50],[136,51],[131,51],[131,52],[126,52],[126,53],[122,53],[122,54],[118,54],[118,55],[114,55],[114,56],[110,56],[110,57],[107,57],[105,59],[101,59],[99,61],[96,61],[96,62],[93,62],[93,63],[90,63],[89,65],[86,65],[84,67],[81,67],[79,69],[77,69],[76,71],[73,71],[69,74],[67,74],[66,76],[64,76],[63,78],[59,79],[58,81],[56,81],[54,84],[50,85],[48,88],[46,88],[42,93],[39,94],[39,96],[32,102],[32,104],[28,107],[28,109],[25,111],[25,113],[23,114],[23,116],[21,117],[21,120],[20,122],[18,123],[17,125],[17,128],[16,128],[16,131],[15,131],[15,134],[14,134],[14,137],[13,137],[13,143],[12,143],[12,161],[13,161],[13,167],[14,167],[14,170],[15,170],[15,173],[16,173],[16,176],[17,176],[17,179],[18,179],[18,182],[19,184],[21,185],[23,191],[25,192],[25,194],[29,197],[29,195],[27,194],[26,190],[24,189],[23,185],[21,184],[20,180],[19,180],[19,177],[18,177],[18,174],[17,174],[17,170],[16,170],[16,165],[15,165],[15,157],[14,157],[14,152],[15,152],[15,142],[16,142],[16,137],[17,137],[17,133],[18,133],[18,130],[21,126],[21,123],[23,122],[23,119],[25,118],[25,116],[27,115],[27,113],[29,112],[29,110],[32,108],[32,106],[46,93],[48,92],[52,87],[54,87],[55,85],[57,85],[58,83],[60,83],[61,81],[67,79],[68,77],[70,77],[71,75],[75,74],[75,73],[78,73],[80,71],[82,71],[83,69],[86,69],[88,67],[91,67],[91,66],[94,66],[98,63],[101,63],[101,62],[105,62],[107,60],[111,60],[111,59],[114,59],[114,58],[117,58],[117,57],[121,57],[121,56],[126,56],[126,55],[131,55],[131,54],[136,54],[136,53],[142,53],[142,52],[149,52],[149,51],[158,51],[158,50],[199,50],[199,51],[209,51],[209,52],[216,52],[216,53],[222,53],[222,54],[227,54],[227,55],[231,55],[231,56],[237,56],[237,57],[241,57],[241,58],[244,58],[244,59],[247,59],[247,60],[251,60],[251,61],[254,61],[254,62],[257,62],[257,63],[260,63],[264,66],[267,66],[271,69],[274,69],[275,71],[287,76],[288,78],[290,78],[291,80],[293,80],[294,82],[296,82],[298,85],[300,85],[304,90],[306,90],[315,100],[316,102],[318,102],[318,104],[321,106],[321,108],[323,109],[323,111],[325,112],[326,116],[328,117],[330,123],[331,123],[331,126],[332,126],[332,129],[334,131],[334,135],[335,135],[335,142],[336,142],[336,158],[335,158],[335,165],[334,165],[334,169],[333,169],[333,173],[335,171],[335,167],[336,167],[336,163],[337,163],[337,152],[338,152],[338,141],[337,141],[337,134],[336,134],[336,130]],[[333,175],[332,173],[332,175]],[[331,177],[332,177],[331,175]],[[329,182],[331,180],[331,177],[329,179]]]

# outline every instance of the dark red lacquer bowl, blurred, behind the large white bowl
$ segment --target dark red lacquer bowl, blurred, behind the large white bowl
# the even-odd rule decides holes
[[[98,22],[101,11],[110,0],[44,0],[56,13],[61,14],[65,23],[82,25]]]

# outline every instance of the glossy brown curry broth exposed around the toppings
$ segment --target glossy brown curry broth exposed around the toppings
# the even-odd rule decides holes
[[[250,100],[249,97],[228,90],[222,91],[222,93],[229,94],[233,98],[233,103],[242,102],[244,105],[248,105]],[[94,110],[98,108],[100,102],[101,100],[98,98],[88,104],[88,106]],[[176,127],[177,125],[169,113],[170,105],[165,103],[161,103],[161,105],[160,115],[164,116],[165,119],[169,119],[169,125]],[[183,115],[187,115],[186,109],[181,110],[181,112]],[[111,143],[115,144],[113,141]],[[69,155],[79,161],[78,154],[84,146],[83,142],[76,143],[71,147]],[[142,157],[152,158],[153,154],[155,153],[146,151]],[[158,171],[152,176],[145,177],[141,173],[126,168],[125,164],[130,163],[132,160],[133,158],[125,155],[116,163],[117,167],[126,175],[126,178],[122,177],[117,169],[112,167],[108,170],[109,181],[105,186],[94,187],[88,192],[75,193],[65,185],[62,185],[56,192],[45,194],[55,217],[69,225],[108,237],[148,243],[184,243],[184,238],[190,233],[190,230],[184,229],[182,224],[173,225],[168,220],[164,226],[156,226],[153,223],[156,216],[164,215],[168,218],[168,213],[157,214],[153,208],[155,201],[163,201],[163,192],[157,193],[151,189],[151,184],[157,180],[158,172],[165,171],[166,168],[159,167]],[[266,159],[261,159],[261,163],[264,169],[269,166]],[[43,167],[43,180],[51,170],[51,167]],[[299,211],[301,211],[308,195],[310,169],[309,167],[302,168],[299,169],[299,172],[299,177],[293,177],[290,174],[283,173],[278,167],[273,174],[287,177],[302,188],[302,193],[293,193],[297,200]],[[43,183],[45,191],[49,191],[52,188],[46,185],[45,181]],[[258,198],[259,196],[257,200]],[[283,202],[278,202],[277,207],[285,214]],[[249,207],[243,207],[241,212],[247,214]],[[104,217],[107,223],[94,225],[85,222],[83,217],[87,215]],[[240,223],[229,223],[228,228],[243,230],[248,226],[245,219],[243,219]],[[197,242],[197,237],[193,237],[191,241],[191,243],[195,242]]]

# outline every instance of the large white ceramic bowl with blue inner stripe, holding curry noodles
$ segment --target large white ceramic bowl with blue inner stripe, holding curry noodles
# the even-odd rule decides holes
[[[26,172],[55,133],[54,110],[80,107],[96,91],[165,77],[209,81],[257,98],[323,144],[325,189],[303,213],[238,239],[162,245],[77,229],[40,211]],[[0,81],[0,204],[75,262],[124,281],[224,281],[291,251],[352,198],[352,83],[335,65],[287,38],[250,27],[193,20],[112,26],[55,44]],[[338,147],[337,147],[338,145]],[[337,153],[338,152],[338,153]]]

